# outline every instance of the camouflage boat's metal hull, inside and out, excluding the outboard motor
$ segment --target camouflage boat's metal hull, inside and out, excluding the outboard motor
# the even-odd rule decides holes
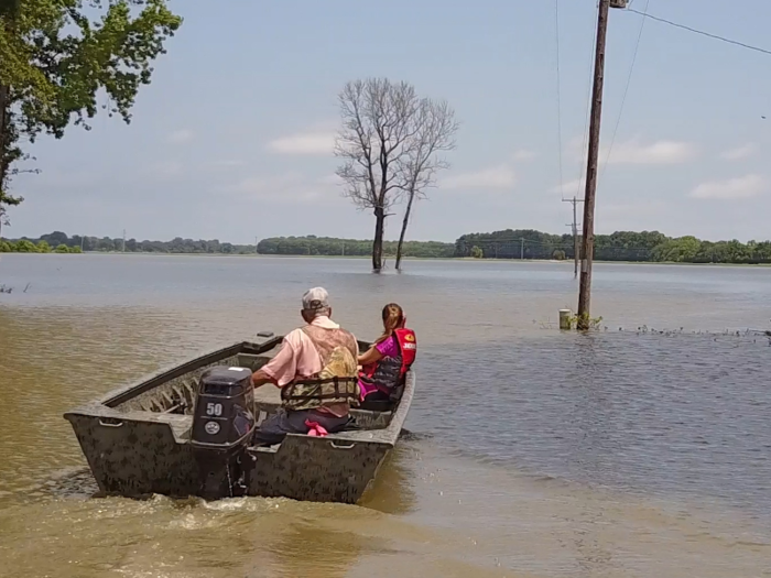
[[[100,493],[128,498],[199,495],[197,462],[189,444],[192,415],[146,407],[189,397],[195,388],[188,382],[195,382],[196,375],[213,364],[240,363],[251,369],[263,364],[270,357],[264,356],[268,345],[241,343],[206,353],[65,414]],[[274,342],[271,349],[275,347]],[[249,355],[245,356],[245,350]],[[394,411],[351,411],[357,429],[325,437],[290,434],[280,445],[248,448],[256,459],[246,493],[356,503],[394,447],[414,381],[414,373],[410,373]],[[187,403],[192,405],[192,400]],[[261,421],[278,407],[275,401],[263,396],[256,403],[256,414]]]

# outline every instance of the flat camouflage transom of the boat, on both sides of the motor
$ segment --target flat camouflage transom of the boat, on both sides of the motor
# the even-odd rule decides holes
[[[102,493],[198,493],[193,448],[170,424],[123,419],[106,427],[94,416],[68,419]],[[278,449],[248,449],[256,458],[248,494],[355,503],[392,448],[384,441],[289,435]]]

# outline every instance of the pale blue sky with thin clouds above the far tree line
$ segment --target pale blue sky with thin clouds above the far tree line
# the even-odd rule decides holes
[[[132,123],[97,118],[90,132],[35,144],[43,173],[14,183],[26,200],[6,235],[369,237],[372,216],[332,178],[336,95],[367,76],[445,98],[461,121],[453,167],[417,206],[411,238],[568,230],[561,189],[583,196],[595,0],[560,0],[562,177],[554,0],[172,6],[185,22]],[[771,48],[768,0],[650,0],[649,10]],[[610,15],[597,231],[771,237],[771,56],[647,21],[606,165],[641,25]]]

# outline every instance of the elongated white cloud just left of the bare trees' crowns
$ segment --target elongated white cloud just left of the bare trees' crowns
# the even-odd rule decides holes
[[[339,192],[330,177],[307,179],[296,173],[278,176],[251,176],[219,187],[218,190],[251,200],[286,204],[329,201],[339,197]]]

